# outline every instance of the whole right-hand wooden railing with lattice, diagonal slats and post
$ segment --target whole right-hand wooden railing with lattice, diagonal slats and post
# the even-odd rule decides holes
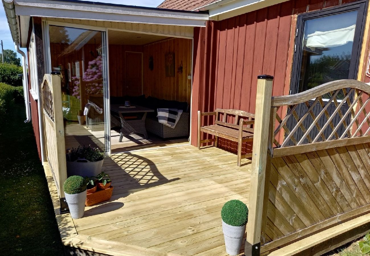
[[[271,92],[272,77],[260,76],[246,255],[370,212],[370,86],[339,80],[295,95]],[[306,245],[302,255],[324,253],[340,239]]]

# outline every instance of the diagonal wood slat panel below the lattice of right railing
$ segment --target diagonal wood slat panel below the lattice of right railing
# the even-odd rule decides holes
[[[369,150],[363,143],[273,158],[261,252],[369,210]]]

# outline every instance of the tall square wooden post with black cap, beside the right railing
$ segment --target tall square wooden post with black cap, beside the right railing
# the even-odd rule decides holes
[[[250,176],[249,215],[244,250],[246,256],[259,255],[260,251],[272,81],[273,77],[270,75],[258,76],[254,123],[255,132],[253,135],[253,156]]]

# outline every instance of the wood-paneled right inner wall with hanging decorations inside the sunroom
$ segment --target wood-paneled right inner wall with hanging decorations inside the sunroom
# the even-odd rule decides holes
[[[144,94],[166,100],[186,101],[191,98],[191,48],[190,39],[174,38],[144,46]],[[166,77],[165,54],[175,53],[175,76]],[[154,69],[149,69],[149,57]],[[182,74],[178,68],[182,63]]]

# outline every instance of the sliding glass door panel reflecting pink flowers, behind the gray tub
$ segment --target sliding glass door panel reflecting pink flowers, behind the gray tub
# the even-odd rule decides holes
[[[61,73],[66,147],[110,151],[106,31],[48,24],[50,70]]]

